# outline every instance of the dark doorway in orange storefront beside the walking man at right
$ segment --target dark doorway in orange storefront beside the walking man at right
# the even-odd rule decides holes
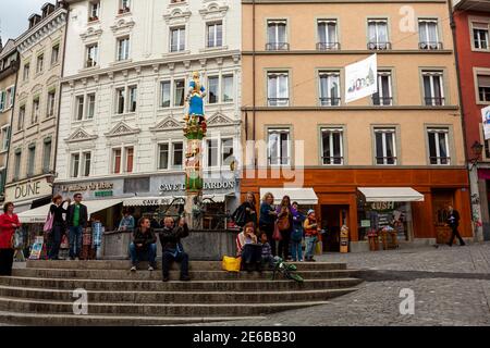
[[[452,190],[436,190],[432,192],[433,225],[438,244],[448,243],[451,237],[451,228],[446,226],[448,206],[454,204]]]

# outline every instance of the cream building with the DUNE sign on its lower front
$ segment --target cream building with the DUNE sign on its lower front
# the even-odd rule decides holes
[[[21,65],[5,200],[13,201],[17,212],[42,204],[52,192],[65,25],[66,10],[47,3],[15,40]]]

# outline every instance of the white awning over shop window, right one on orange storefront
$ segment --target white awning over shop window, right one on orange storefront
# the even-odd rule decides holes
[[[367,202],[421,202],[424,195],[412,187],[358,187]]]

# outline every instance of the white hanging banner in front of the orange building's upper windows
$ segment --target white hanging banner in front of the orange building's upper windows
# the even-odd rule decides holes
[[[365,98],[378,91],[378,61],[372,54],[345,66],[345,102]]]

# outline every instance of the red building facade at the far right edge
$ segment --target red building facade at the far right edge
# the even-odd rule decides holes
[[[454,1],[455,41],[478,239],[490,240],[490,146],[482,109],[490,105],[490,1]]]

